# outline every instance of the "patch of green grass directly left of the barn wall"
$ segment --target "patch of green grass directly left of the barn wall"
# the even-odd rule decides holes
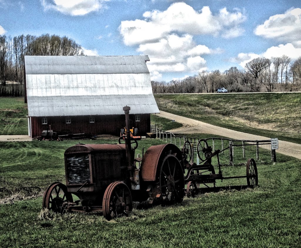
[[[27,104],[23,97],[0,97],[0,135],[25,135]]]

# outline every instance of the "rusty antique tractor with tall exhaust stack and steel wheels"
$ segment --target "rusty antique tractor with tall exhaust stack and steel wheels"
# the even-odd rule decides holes
[[[110,220],[128,215],[133,201],[168,205],[183,200],[181,150],[173,144],[156,145],[135,158],[138,143],[130,137],[130,107],[123,110],[127,132],[119,144],[77,144],[65,151],[66,184],[55,182],[47,188],[43,208],[102,212]],[[73,196],[78,200],[73,201]]]

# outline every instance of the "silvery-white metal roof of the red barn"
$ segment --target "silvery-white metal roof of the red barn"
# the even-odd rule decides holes
[[[25,56],[29,116],[159,113],[148,56]]]

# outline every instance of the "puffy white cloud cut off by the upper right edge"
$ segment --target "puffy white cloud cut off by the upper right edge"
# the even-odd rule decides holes
[[[301,8],[290,9],[284,14],[271,16],[254,30],[258,36],[284,42],[301,40]]]

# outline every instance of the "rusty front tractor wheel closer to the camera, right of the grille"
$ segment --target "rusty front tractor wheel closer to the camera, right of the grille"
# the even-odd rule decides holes
[[[104,218],[115,219],[118,216],[128,216],[133,209],[131,192],[122,181],[111,183],[104,192],[102,210]]]

